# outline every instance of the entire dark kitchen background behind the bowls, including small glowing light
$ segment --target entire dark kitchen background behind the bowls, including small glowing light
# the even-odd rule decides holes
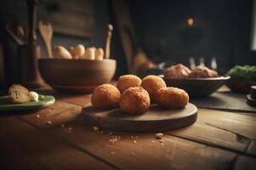
[[[119,2],[119,3],[117,3]],[[40,0],[37,21],[54,27],[53,46],[70,47],[78,43],[103,47],[105,26],[114,26],[111,58],[117,59],[116,77],[128,72],[130,49],[144,51],[154,63],[196,64],[216,59],[220,72],[234,65],[255,65],[253,42],[253,0]],[[27,25],[26,0],[3,1],[0,7],[0,82],[1,87],[17,80],[17,45],[6,34],[5,26],[14,21]],[[123,29],[123,25],[125,27]],[[46,51],[37,33],[37,42]],[[134,47],[135,46],[135,47]]]

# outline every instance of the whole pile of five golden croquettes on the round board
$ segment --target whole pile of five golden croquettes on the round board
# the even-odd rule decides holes
[[[183,89],[167,87],[161,77],[149,75],[141,80],[135,75],[123,75],[117,87],[102,84],[95,88],[91,102],[100,110],[120,107],[128,114],[142,114],[151,104],[171,110],[183,108],[189,102],[189,95]]]

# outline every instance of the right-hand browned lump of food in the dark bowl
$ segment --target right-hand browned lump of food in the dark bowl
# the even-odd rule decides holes
[[[219,77],[218,73],[216,71],[213,71],[209,69],[206,66],[196,66],[196,68],[191,71],[191,74],[189,75],[191,78],[209,78],[209,77]]]

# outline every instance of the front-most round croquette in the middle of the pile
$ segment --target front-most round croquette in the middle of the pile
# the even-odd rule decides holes
[[[140,114],[148,111],[151,105],[150,95],[144,88],[128,88],[121,95],[120,108],[130,114]]]

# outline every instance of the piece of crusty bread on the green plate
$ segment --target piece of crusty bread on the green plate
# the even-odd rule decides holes
[[[15,104],[22,104],[31,101],[29,90],[20,84],[13,84],[8,90],[9,99]]]

